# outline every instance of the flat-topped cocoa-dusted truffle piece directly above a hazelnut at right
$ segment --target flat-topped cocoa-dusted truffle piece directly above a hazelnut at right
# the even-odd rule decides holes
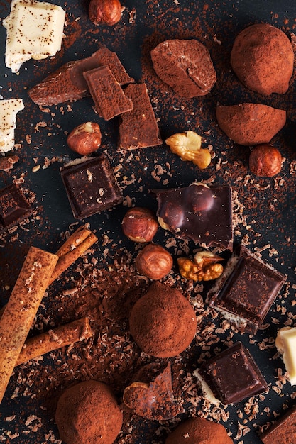
[[[268,143],[285,125],[286,111],[262,104],[216,106],[221,130],[240,145]]]

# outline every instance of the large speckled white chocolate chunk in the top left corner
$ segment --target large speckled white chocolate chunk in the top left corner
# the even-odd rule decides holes
[[[53,56],[62,45],[65,11],[57,5],[35,0],[12,0],[4,18],[5,65],[18,72],[27,60]]]

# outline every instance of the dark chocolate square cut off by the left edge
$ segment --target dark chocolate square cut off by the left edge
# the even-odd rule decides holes
[[[0,232],[17,225],[32,213],[33,209],[16,184],[0,190]]]

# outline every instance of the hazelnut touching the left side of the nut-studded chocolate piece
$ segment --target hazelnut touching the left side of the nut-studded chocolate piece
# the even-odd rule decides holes
[[[135,206],[124,216],[122,231],[133,242],[150,242],[158,231],[158,221],[153,212],[146,208]]]

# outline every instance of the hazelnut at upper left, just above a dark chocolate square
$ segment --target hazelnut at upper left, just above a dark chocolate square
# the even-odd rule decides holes
[[[67,137],[67,144],[72,151],[80,155],[89,155],[101,145],[101,130],[98,123],[86,122],[74,128]]]

